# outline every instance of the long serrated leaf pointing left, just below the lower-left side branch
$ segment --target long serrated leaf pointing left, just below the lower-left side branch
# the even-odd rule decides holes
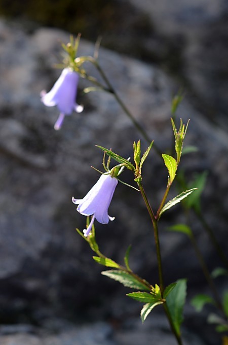
[[[141,283],[134,275],[129,272],[125,272],[119,269],[113,269],[103,271],[101,272],[101,274],[106,275],[106,277],[109,277],[110,279],[120,282],[128,288],[150,291],[150,288],[146,285],[146,282],[145,284]]]

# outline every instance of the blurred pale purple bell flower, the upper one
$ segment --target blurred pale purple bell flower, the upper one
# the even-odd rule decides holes
[[[59,79],[55,82],[52,89],[47,93],[41,92],[41,101],[47,107],[57,106],[60,115],[55,123],[54,128],[60,129],[65,115],[70,115],[73,110],[77,113],[83,111],[83,107],[75,101],[79,83],[79,74],[70,68],[64,68]]]

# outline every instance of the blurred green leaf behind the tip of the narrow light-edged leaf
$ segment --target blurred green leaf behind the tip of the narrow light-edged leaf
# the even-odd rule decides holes
[[[200,198],[204,191],[206,181],[207,171],[204,171],[202,174],[196,175],[195,179],[191,182],[191,184],[188,185],[189,189],[193,187],[197,188],[197,191],[184,201],[184,204],[188,209],[195,208],[195,210],[198,212],[201,210]]]

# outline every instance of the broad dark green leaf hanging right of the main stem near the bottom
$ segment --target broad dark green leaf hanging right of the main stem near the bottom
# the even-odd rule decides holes
[[[180,325],[183,321],[183,307],[186,299],[186,279],[180,279],[176,282],[176,286],[170,291],[166,297],[173,325],[176,332],[180,335]]]

